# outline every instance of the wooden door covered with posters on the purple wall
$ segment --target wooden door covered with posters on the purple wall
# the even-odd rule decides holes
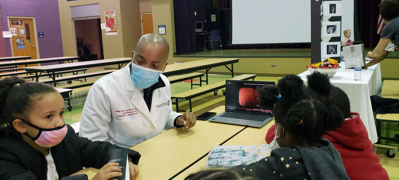
[[[9,23],[10,31],[14,34],[11,38],[14,56],[32,56],[31,59],[37,59],[36,33],[34,31],[33,19],[10,18]],[[30,64],[29,66],[37,66],[37,64]]]

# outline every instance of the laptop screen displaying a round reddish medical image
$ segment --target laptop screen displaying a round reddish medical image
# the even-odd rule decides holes
[[[276,83],[226,80],[226,112],[271,115],[273,111],[259,108],[256,88],[263,85],[276,85]]]

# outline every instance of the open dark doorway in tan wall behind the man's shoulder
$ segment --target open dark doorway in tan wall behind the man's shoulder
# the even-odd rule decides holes
[[[100,18],[74,19],[79,61],[104,59]]]

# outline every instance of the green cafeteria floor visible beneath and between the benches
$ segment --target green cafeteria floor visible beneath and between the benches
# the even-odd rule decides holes
[[[89,72],[98,71],[98,70],[89,70]],[[209,83],[215,83],[219,81],[224,81],[225,79],[231,78],[229,75],[209,75]],[[255,80],[258,81],[278,81],[280,78],[278,77],[256,77]],[[93,80],[88,80],[93,81]],[[74,81],[73,83],[79,83],[78,81]],[[198,83],[198,82],[196,82]],[[61,84],[57,85],[57,87],[62,87]],[[198,86],[195,86],[198,87]],[[82,113],[83,105],[86,100],[87,93],[89,92],[90,87],[84,87],[79,89],[74,89],[71,95],[71,105],[73,106],[71,112],[65,112],[64,119],[66,124],[73,124],[80,121],[80,116]],[[183,91],[187,91],[191,89],[190,83],[179,82],[171,85],[172,94],[179,93]],[[225,97],[222,95],[221,91],[217,95],[213,95],[213,93],[209,93],[207,95],[203,95],[192,100],[193,112],[198,116],[203,112],[207,112],[216,108],[218,106],[224,105]],[[188,110],[188,101],[184,101],[179,103],[179,107],[184,110]],[[173,108],[175,108],[173,106]],[[265,132],[266,133],[266,132]],[[382,122],[382,135],[393,137],[395,134],[399,134],[399,126],[397,123],[385,123]],[[393,141],[382,141],[382,143],[387,143],[390,145],[399,146],[397,142]],[[387,149],[385,148],[375,148],[375,151],[380,159],[381,165],[387,170],[390,178],[392,180],[399,180],[399,155],[395,158],[391,159],[386,157],[385,152]]]

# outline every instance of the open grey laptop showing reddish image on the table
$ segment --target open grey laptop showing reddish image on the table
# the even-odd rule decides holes
[[[263,85],[276,85],[272,81],[226,80],[225,112],[209,119],[221,122],[260,128],[272,120],[272,112],[259,108],[256,88]]]

